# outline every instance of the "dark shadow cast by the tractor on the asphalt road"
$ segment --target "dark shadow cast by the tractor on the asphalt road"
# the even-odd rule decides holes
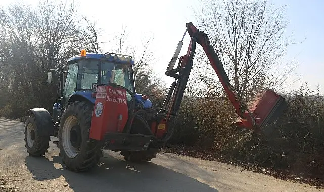
[[[61,163],[61,158],[52,158],[53,161],[45,157],[27,156],[25,163],[35,180],[45,181],[63,176],[74,191],[217,191],[172,169],[151,162],[131,163],[107,153],[104,153],[98,167],[84,173],[56,168],[54,165]]]

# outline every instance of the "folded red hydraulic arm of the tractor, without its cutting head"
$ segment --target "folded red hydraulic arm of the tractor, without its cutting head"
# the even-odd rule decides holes
[[[248,116],[251,118],[252,123],[243,122],[246,123],[246,127],[253,128],[254,126],[254,118],[252,116],[252,113],[249,111],[249,109],[241,102],[241,99],[238,97],[238,95],[235,93],[235,90],[233,86],[230,84],[230,80],[224,70],[224,67],[222,63],[220,62],[215,50],[210,45],[209,39],[206,35],[206,33],[198,31],[198,29],[190,22],[186,24],[187,31],[191,37],[191,41],[188,47],[187,54],[182,56],[179,61],[178,67],[176,69],[171,69],[166,72],[166,75],[175,77],[177,81],[173,82],[171,85],[171,88],[169,90],[169,93],[163,103],[162,109],[166,110],[166,105],[169,103],[169,100],[171,99],[171,95],[173,93],[171,103],[167,110],[166,115],[166,121],[168,122],[172,116],[176,116],[177,111],[180,107],[180,103],[183,97],[184,89],[186,88],[189,74],[193,65],[193,59],[196,52],[196,43],[200,44],[211,65],[213,66],[219,81],[221,82],[222,86],[225,89],[226,94],[228,95],[228,98],[230,102],[232,102],[237,114],[242,118],[246,119]],[[174,58],[172,58],[174,59]],[[170,62],[171,63],[171,62]],[[168,67],[169,68],[169,67]],[[173,68],[173,67],[171,67]],[[178,73],[178,74],[177,74]],[[246,111],[246,112],[244,112]],[[251,127],[252,126],[252,127]]]

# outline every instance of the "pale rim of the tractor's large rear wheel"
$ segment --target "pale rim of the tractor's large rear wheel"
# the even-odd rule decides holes
[[[76,117],[73,115],[69,116],[62,130],[63,150],[69,158],[77,156],[80,150],[81,132],[78,129],[80,127]]]

